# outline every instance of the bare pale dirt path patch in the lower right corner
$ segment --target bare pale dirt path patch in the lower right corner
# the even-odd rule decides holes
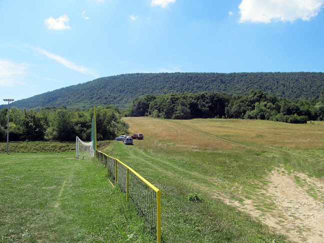
[[[270,198],[273,209],[266,208],[258,199],[242,203],[223,198],[254,218],[267,224],[276,232],[287,235],[294,242],[324,242],[324,180],[282,168],[273,170],[264,189],[255,196]],[[244,198],[244,195],[241,195]]]

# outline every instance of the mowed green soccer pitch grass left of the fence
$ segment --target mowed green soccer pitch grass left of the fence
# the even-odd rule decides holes
[[[151,242],[104,167],[74,157],[0,154],[0,242]]]

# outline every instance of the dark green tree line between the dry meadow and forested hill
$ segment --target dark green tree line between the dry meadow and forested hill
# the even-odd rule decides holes
[[[267,95],[257,89],[248,95],[217,92],[147,94],[133,99],[129,116],[167,119],[241,118],[306,123],[324,119],[324,92],[312,100],[295,100]]]

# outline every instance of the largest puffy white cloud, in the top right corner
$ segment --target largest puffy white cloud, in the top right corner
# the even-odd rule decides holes
[[[308,21],[323,5],[324,0],[242,0],[239,22]]]

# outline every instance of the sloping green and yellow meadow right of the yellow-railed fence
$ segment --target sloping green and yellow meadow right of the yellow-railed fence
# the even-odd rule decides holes
[[[165,242],[286,242],[284,235],[226,205],[222,197],[240,203],[243,194],[266,210],[271,198],[255,197],[255,192],[275,166],[324,175],[323,122],[150,117],[125,121],[131,133],[141,132],[144,139],[134,140],[132,146],[113,141],[103,151],[161,190]],[[186,198],[195,192],[202,202]]]

